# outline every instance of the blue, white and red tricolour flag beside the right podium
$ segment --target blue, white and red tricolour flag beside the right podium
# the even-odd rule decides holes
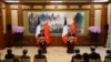
[[[67,25],[67,18],[64,18],[63,31],[62,31],[62,40],[67,43],[68,39],[68,25]]]

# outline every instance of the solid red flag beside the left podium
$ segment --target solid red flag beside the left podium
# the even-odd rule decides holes
[[[51,38],[50,38],[50,29],[49,29],[49,23],[48,23],[48,19],[44,22],[44,37],[46,37],[46,41],[47,44],[49,44],[51,42]]]

